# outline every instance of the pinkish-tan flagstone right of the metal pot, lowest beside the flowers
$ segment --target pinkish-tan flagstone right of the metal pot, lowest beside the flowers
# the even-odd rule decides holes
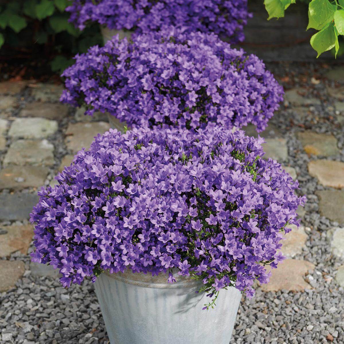
[[[287,258],[278,264],[277,269],[272,269],[272,275],[268,284],[262,284],[263,291],[304,291],[312,289],[304,276],[309,270],[313,271],[314,264],[302,259]]]

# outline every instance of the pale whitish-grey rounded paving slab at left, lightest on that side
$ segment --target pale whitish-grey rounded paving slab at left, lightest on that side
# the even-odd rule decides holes
[[[17,118],[13,121],[8,135],[13,138],[43,139],[58,129],[57,121],[46,118]]]

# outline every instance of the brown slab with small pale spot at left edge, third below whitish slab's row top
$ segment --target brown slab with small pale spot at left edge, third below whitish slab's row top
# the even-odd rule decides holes
[[[44,166],[8,166],[0,170],[0,190],[22,190],[44,185],[49,169]]]

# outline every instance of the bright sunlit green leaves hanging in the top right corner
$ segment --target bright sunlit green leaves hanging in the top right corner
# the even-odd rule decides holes
[[[282,18],[284,11],[296,0],[264,0],[269,17]],[[340,48],[338,37],[344,35],[344,0],[311,0],[308,6],[308,29],[319,32],[311,37],[311,46],[319,57],[323,52],[333,50],[335,57]]]

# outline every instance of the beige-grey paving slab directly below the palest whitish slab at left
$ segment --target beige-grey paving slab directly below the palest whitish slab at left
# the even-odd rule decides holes
[[[55,162],[53,151],[53,144],[47,140],[17,140],[8,149],[3,164],[50,166]]]

